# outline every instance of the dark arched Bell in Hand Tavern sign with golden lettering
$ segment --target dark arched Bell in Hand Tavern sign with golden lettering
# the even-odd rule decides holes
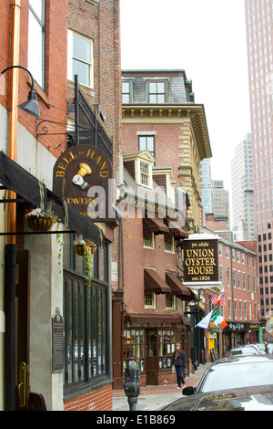
[[[53,192],[84,216],[107,220],[112,214],[113,167],[106,153],[87,144],[66,149],[57,159]]]

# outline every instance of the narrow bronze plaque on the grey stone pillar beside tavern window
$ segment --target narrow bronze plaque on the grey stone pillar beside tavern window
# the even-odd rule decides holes
[[[56,314],[52,318],[52,372],[64,370],[64,346],[64,319],[60,309],[56,309]]]

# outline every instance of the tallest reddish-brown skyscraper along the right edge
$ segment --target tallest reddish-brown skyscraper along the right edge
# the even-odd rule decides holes
[[[260,315],[273,311],[272,0],[245,0]]]

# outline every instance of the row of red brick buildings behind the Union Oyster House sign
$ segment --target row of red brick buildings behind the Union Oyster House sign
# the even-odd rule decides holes
[[[222,333],[225,355],[232,347],[260,340],[256,240],[234,243],[228,236],[227,219],[220,218],[218,222],[213,214],[206,217],[205,231],[213,231],[219,236],[219,278],[226,301],[226,307],[221,306],[220,313],[228,325]],[[207,311],[213,307],[212,296],[213,293],[207,291]],[[215,336],[218,337],[217,330]]]

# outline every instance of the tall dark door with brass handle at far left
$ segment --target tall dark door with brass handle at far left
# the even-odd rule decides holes
[[[29,302],[30,256],[28,250],[17,252],[16,279],[16,391],[17,409],[29,409]]]

